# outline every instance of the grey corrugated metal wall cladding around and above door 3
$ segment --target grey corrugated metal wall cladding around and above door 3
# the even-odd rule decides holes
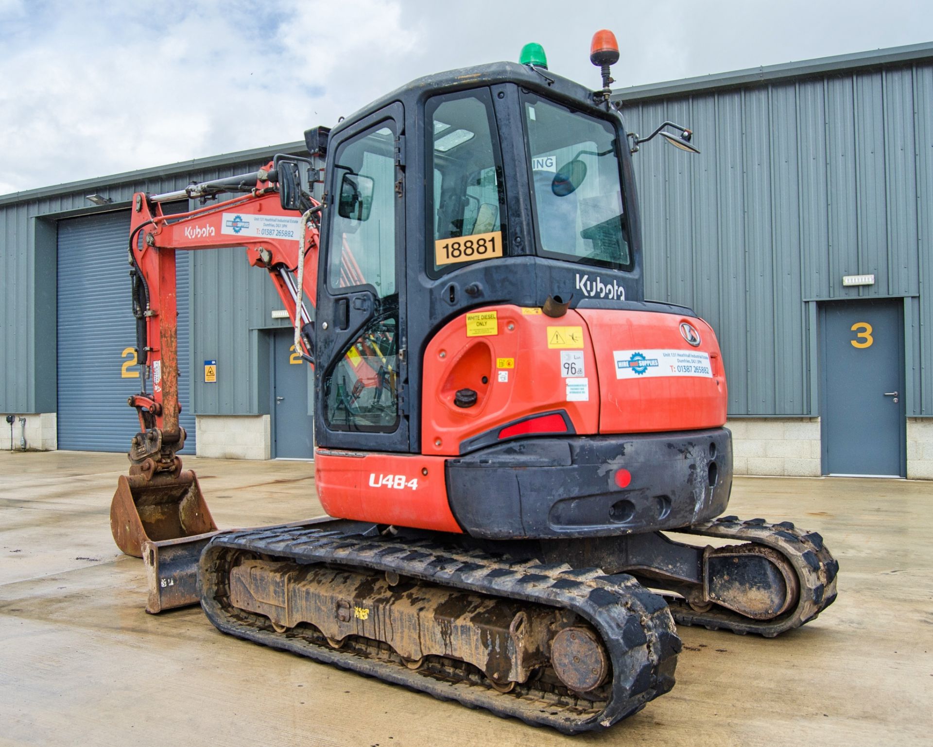
[[[906,297],[908,415],[933,415],[933,47],[921,51],[693,95],[620,92],[629,131],[672,119],[703,151],[651,143],[634,158],[646,296],[714,325],[731,415],[815,415],[807,305],[889,296]],[[875,284],[842,286],[862,273]]]

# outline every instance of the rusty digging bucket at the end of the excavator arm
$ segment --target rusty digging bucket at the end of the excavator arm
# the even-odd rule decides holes
[[[127,555],[143,557],[146,542],[216,532],[198,477],[190,470],[173,475],[121,475],[110,504],[110,531]]]

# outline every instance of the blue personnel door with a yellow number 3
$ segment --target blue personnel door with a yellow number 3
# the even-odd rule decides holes
[[[903,302],[821,307],[824,475],[904,477]]]

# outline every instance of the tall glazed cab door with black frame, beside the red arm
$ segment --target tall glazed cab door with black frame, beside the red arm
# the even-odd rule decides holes
[[[315,320],[317,445],[408,451],[404,110],[331,137]]]

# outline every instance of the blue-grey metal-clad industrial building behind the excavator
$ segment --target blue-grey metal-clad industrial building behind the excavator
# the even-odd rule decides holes
[[[933,44],[614,98],[630,132],[672,120],[701,150],[634,155],[646,296],[717,330],[736,473],[933,478]],[[303,150],[0,196],[0,413],[16,416],[0,446],[126,450],[133,192]],[[237,249],[179,253],[178,272],[186,452],[311,457],[311,378],[272,284]]]

